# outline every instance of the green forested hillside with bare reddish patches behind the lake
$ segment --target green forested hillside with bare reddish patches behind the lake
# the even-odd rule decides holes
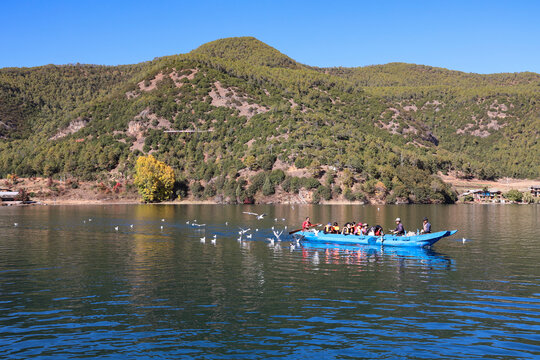
[[[438,172],[540,177],[539,132],[539,74],[316,68],[254,38],[0,69],[2,177],[125,180],[152,153],[188,196],[451,202]]]

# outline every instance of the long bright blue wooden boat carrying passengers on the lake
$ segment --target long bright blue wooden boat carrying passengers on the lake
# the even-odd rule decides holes
[[[302,241],[322,242],[326,244],[429,247],[442,238],[454,235],[455,233],[457,233],[457,230],[439,231],[431,234],[411,236],[397,236],[391,234],[373,236],[325,234],[322,231],[303,231],[297,233],[297,235],[300,236]]]

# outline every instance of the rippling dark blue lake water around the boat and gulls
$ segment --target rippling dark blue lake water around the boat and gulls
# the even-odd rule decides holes
[[[538,205],[42,206],[0,214],[2,358],[540,357]],[[459,232],[431,250],[293,249],[285,234],[308,215],[385,229],[399,216],[408,230],[428,216],[435,231]],[[206,225],[192,226],[195,219]],[[252,238],[238,241],[239,226]],[[274,245],[266,241],[272,226],[287,226]]]

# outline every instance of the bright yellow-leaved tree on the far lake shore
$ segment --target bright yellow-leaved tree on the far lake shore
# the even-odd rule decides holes
[[[145,202],[159,202],[171,197],[174,171],[152,155],[140,156],[135,165],[135,185]]]

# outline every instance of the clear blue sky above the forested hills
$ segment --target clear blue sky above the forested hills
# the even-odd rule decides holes
[[[540,73],[540,1],[2,0],[0,67],[132,64],[254,36],[314,66]]]

